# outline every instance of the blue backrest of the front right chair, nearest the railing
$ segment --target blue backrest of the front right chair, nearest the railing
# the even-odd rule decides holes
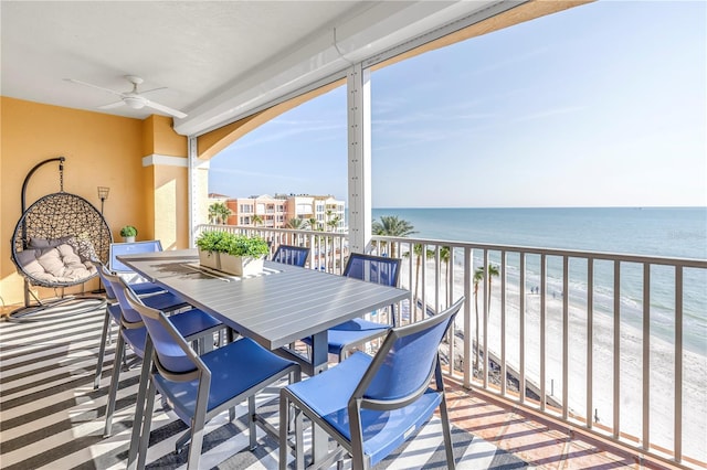
[[[365,408],[394,409],[425,393],[440,367],[440,344],[463,302],[464,297],[441,313],[391,329],[351,399],[360,398]]]

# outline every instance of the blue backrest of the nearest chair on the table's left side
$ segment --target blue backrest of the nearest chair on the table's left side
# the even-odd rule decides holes
[[[126,301],[147,328],[160,374],[171,381],[197,378],[201,362],[165,313],[145,306],[131,290],[126,291]]]

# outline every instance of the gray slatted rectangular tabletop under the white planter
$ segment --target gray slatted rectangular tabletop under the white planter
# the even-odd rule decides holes
[[[315,373],[326,367],[323,349],[328,328],[410,295],[398,288],[272,261],[265,261],[265,273],[260,276],[222,277],[199,268],[196,249],[118,259],[270,350],[314,337]]]

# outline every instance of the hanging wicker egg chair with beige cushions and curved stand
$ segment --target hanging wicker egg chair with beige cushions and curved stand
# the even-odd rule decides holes
[[[46,194],[25,209],[27,185],[41,165],[59,161],[60,192]],[[64,157],[36,164],[22,184],[22,216],[12,235],[12,263],[24,278],[24,307],[10,319],[54,310],[89,311],[105,305],[96,296],[64,296],[64,288],[97,276],[92,259],[106,263],[113,236],[103,215],[84,197],[64,192]],[[61,289],[56,300],[42,301],[30,286]],[[30,295],[35,302],[30,302]]]

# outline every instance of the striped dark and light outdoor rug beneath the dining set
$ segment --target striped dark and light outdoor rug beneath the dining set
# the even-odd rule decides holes
[[[36,317],[35,317],[36,318]],[[0,322],[0,467],[14,469],[125,468],[139,367],[120,374],[113,436],[103,437],[113,348],[104,363],[99,389],[93,389],[103,311],[45,316],[39,322]],[[261,405],[277,389],[260,396]],[[276,402],[270,405],[276,420]],[[148,468],[184,467],[187,452],[176,455],[175,441],[187,427],[156,403]],[[244,414],[230,423],[228,414],[207,426],[201,468],[275,469],[277,441],[258,428],[260,446],[247,450]],[[405,448],[377,468],[444,468],[441,424],[433,418]],[[454,429],[458,467],[519,468],[527,464],[468,432]]]

